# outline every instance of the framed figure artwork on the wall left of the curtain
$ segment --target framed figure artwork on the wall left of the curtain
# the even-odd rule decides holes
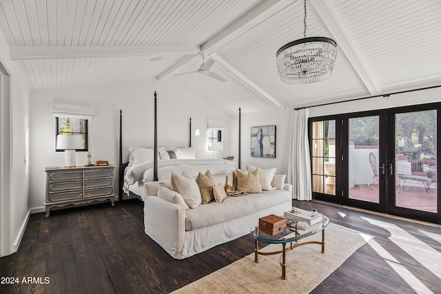
[[[276,126],[251,128],[250,156],[276,158]]]

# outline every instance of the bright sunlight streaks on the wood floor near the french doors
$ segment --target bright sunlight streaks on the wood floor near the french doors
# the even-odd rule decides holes
[[[400,249],[409,254],[414,260],[419,262],[427,270],[429,270],[433,275],[441,279],[441,266],[438,261],[441,260],[441,253],[433,249],[431,246],[422,242],[418,238],[414,237],[407,231],[404,231],[395,224],[389,224],[387,222],[382,222],[380,220],[372,220],[371,218],[364,218],[367,222],[378,226],[384,230],[389,231],[391,240]],[[433,238],[440,242],[441,235],[426,233],[430,238]],[[409,272],[398,260],[393,258],[393,256],[387,252],[380,244],[371,240],[368,243],[384,260],[391,266],[391,268],[402,277],[402,279],[411,286],[415,291],[420,291],[422,293],[433,293],[427,286],[425,286],[418,277]]]

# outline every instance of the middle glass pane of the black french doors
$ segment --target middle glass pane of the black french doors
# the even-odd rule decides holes
[[[378,203],[379,117],[349,118],[349,198]]]

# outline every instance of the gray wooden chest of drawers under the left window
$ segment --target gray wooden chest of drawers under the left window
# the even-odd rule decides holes
[[[46,217],[52,207],[110,200],[114,206],[114,165],[94,167],[46,167]]]

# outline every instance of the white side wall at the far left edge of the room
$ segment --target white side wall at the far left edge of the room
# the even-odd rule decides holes
[[[1,101],[0,256],[17,251],[29,216],[30,88],[17,63],[11,61],[7,44],[0,31],[0,62],[10,76],[9,85],[2,85],[9,91]]]

